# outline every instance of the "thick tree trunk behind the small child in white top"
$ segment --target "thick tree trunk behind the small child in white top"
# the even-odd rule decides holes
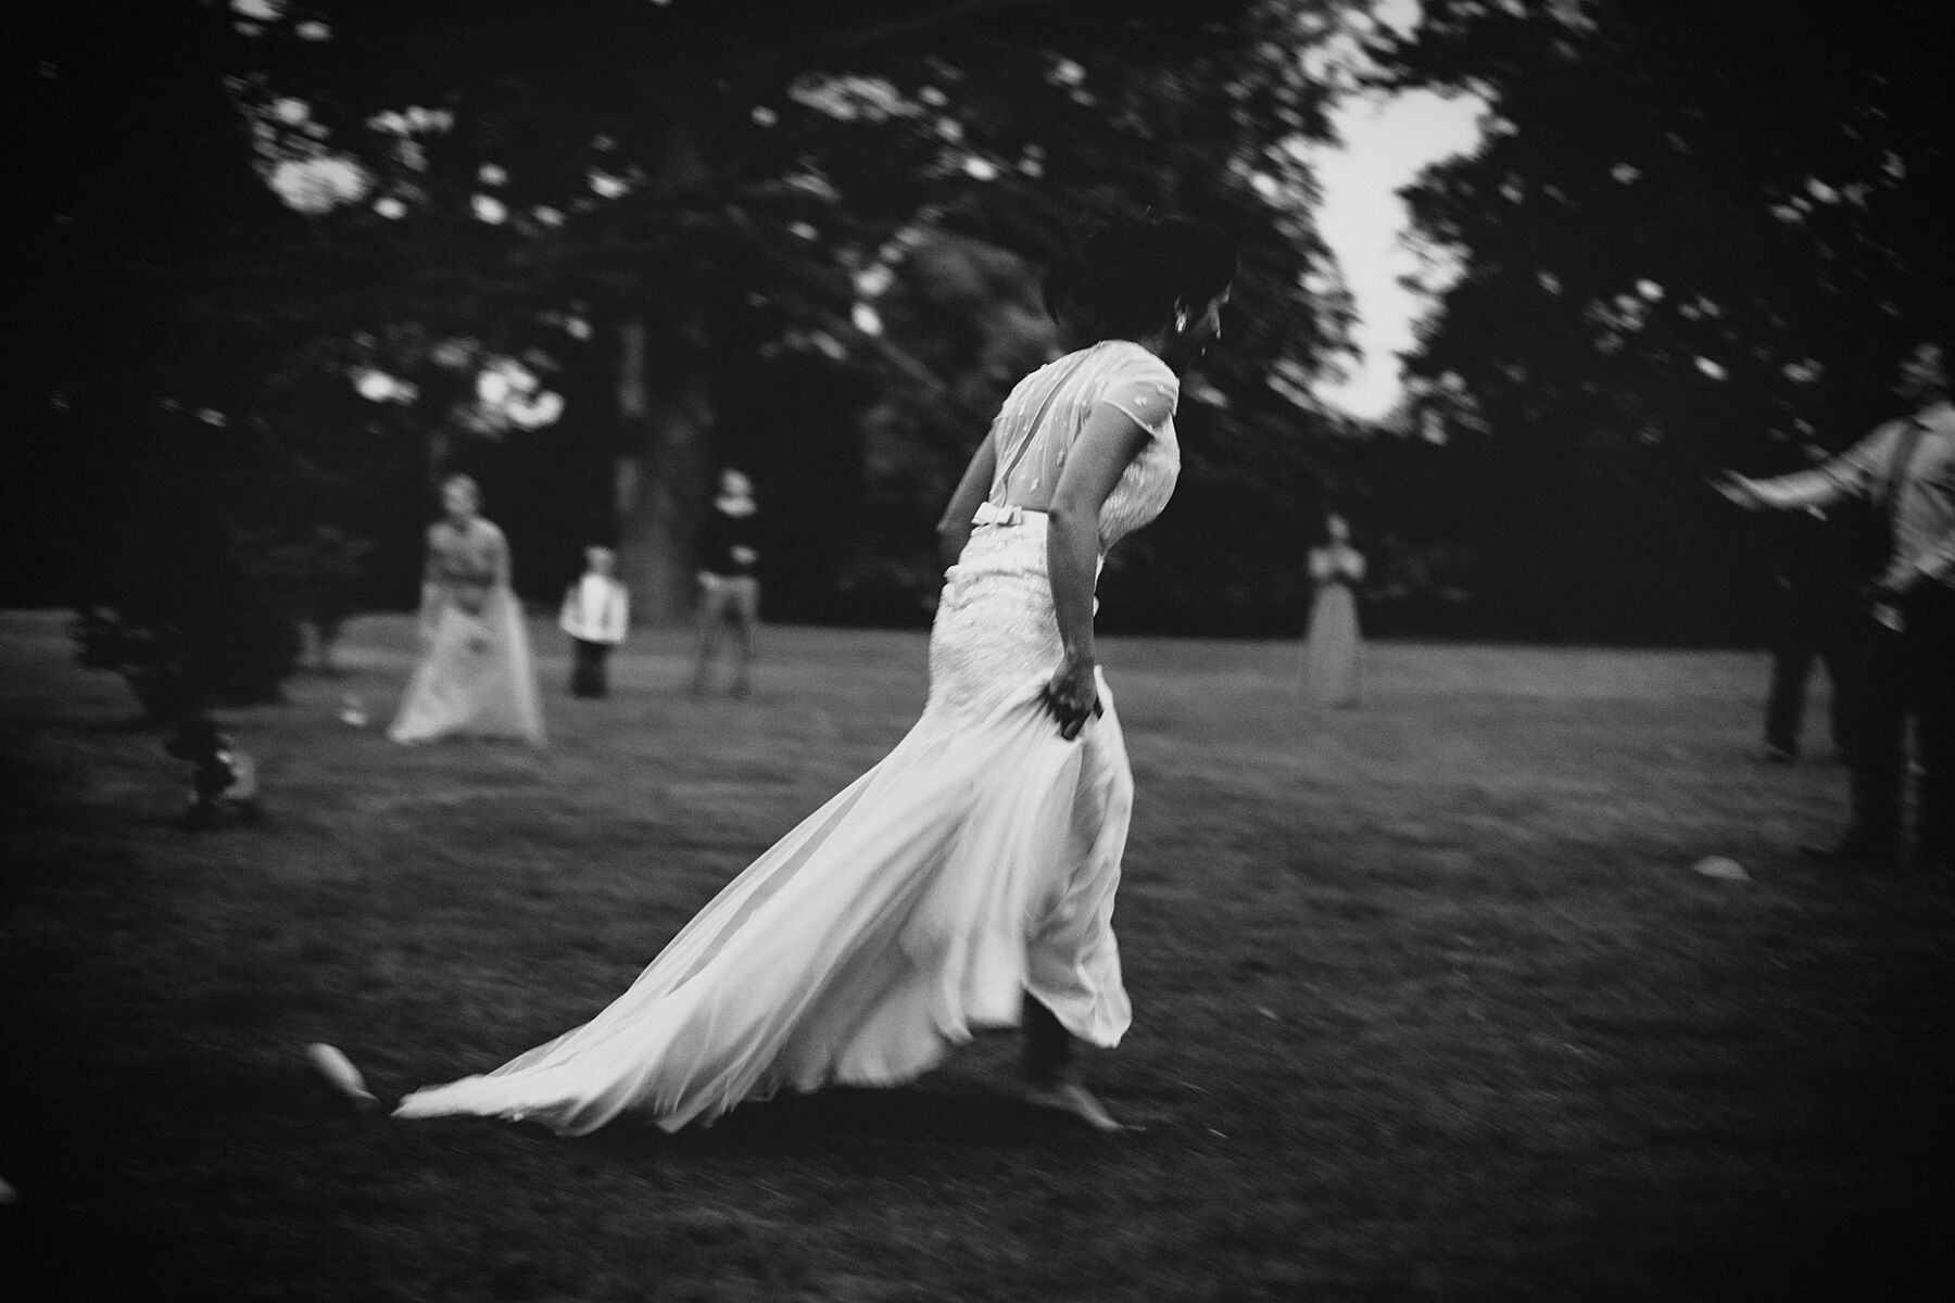
[[[692,611],[694,535],[708,492],[712,406],[690,348],[647,373],[641,318],[620,326],[618,418],[631,449],[618,459],[618,570],[643,625]]]

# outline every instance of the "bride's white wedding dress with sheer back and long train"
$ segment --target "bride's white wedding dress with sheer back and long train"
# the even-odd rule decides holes
[[[1112,402],[1153,438],[1101,510],[1105,555],[1173,492],[1175,397],[1173,371],[1122,340],[1021,381],[989,436],[993,502],[944,576],[931,694],[909,735],[727,883],[596,1018],[493,1072],[416,1090],[395,1115],[583,1135],[633,1110],[676,1131],[782,1088],[911,1080],[972,1028],[1017,1026],[1024,992],[1073,1035],[1118,1043],[1130,1010],[1112,904],[1134,791],[1120,721],[1101,684],[1105,715],[1060,736],[1040,699],[1062,660],[1046,518],[995,502],[1013,461],[1032,481],[1058,475],[1087,412]]]

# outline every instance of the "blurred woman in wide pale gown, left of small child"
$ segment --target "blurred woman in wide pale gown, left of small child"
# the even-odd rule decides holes
[[[522,604],[508,586],[508,541],[479,514],[467,475],[442,481],[420,580],[420,664],[387,736],[543,740],[543,705]]]

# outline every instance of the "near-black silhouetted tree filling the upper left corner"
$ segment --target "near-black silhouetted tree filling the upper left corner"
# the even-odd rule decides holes
[[[123,670],[154,723],[274,697],[297,637],[225,512],[266,449],[217,408],[248,393],[225,365],[248,371],[248,352],[192,344],[180,313],[217,268],[297,227],[237,166],[223,27],[184,6],[12,18],[27,330],[0,455],[0,516],[20,531],[8,596],[76,606],[82,660]]]

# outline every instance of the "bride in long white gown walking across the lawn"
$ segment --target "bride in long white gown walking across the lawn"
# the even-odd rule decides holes
[[[1130,1022],[1112,904],[1134,781],[1093,586],[1175,488],[1177,373],[1234,273],[1230,238],[1185,219],[1108,223],[1048,273],[1048,311],[1095,342],[1019,381],[950,498],[917,725],[590,1022],[397,1117],[583,1135],[633,1110],[676,1131],[782,1088],[905,1082],[974,1028],[1022,1026],[1028,1100],[1118,1129],[1071,1055]]]

